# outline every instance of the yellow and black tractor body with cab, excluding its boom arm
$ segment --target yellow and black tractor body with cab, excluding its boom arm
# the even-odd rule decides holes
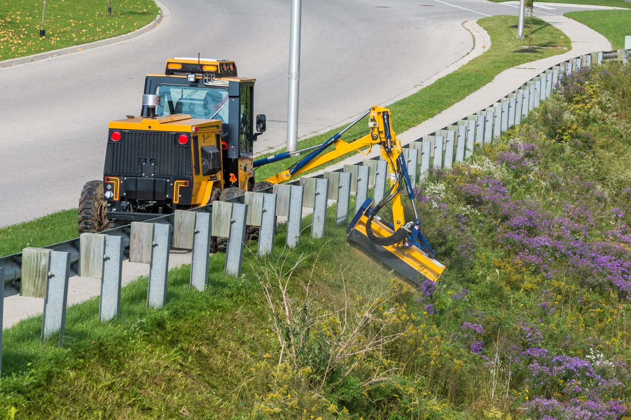
[[[103,180],[85,184],[79,232],[100,232],[254,190],[255,79],[230,60],[168,59],[148,74],[141,116],[109,123]],[[256,132],[254,131],[256,121]]]

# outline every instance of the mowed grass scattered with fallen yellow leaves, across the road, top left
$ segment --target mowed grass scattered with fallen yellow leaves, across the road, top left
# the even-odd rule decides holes
[[[153,0],[0,0],[0,60],[117,37],[147,25],[159,13]]]

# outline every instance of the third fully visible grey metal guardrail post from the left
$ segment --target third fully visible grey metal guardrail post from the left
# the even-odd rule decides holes
[[[147,290],[148,308],[162,308],[167,303],[168,240],[171,229],[171,225],[153,224],[153,241],[150,242],[151,266]]]

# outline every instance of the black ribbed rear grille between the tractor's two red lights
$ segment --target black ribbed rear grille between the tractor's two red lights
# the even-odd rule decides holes
[[[192,176],[190,145],[176,144],[175,135],[164,132],[122,132],[118,142],[107,142],[105,173],[142,176],[142,167],[151,165],[154,176]]]

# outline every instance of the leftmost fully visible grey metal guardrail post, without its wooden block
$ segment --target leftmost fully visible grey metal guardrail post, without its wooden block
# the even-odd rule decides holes
[[[55,332],[59,332],[59,345],[61,346],[64,341],[64,329],[66,327],[70,253],[50,251],[48,267],[40,341],[44,341]]]

